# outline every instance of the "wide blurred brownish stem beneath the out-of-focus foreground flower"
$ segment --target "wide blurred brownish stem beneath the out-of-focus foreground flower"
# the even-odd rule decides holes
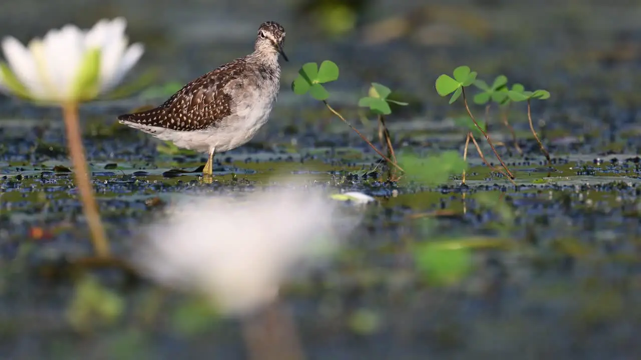
[[[279,300],[244,319],[242,332],[248,359],[304,359],[292,317]]]

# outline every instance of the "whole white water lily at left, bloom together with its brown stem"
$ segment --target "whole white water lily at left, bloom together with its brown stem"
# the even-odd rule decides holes
[[[101,257],[109,256],[110,249],[89,181],[78,105],[108,94],[142,56],[142,44],[128,46],[125,27],[125,19],[117,17],[100,20],[88,30],[72,24],[51,29],[44,38],[31,40],[28,47],[14,37],[2,40],[6,63],[0,63],[0,91],[62,108],[76,185],[96,254]]]

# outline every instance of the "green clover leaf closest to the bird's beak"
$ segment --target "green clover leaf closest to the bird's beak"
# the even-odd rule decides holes
[[[320,63],[320,68],[317,63],[306,63],[298,70],[298,77],[292,82],[292,90],[297,95],[309,92],[314,99],[322,101],[328,99],[329,92],[320,84],[336,79],[338,79],[338,66],[332,61],[323,61]]]

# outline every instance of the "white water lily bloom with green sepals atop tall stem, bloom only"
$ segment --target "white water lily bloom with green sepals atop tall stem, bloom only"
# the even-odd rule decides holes
[[[42,102],[79,102],[113,90],[144,52],[128,47],[126,20],[100,20],[89,30],[67,24],[27,47],[4,37],[0,90]]]

